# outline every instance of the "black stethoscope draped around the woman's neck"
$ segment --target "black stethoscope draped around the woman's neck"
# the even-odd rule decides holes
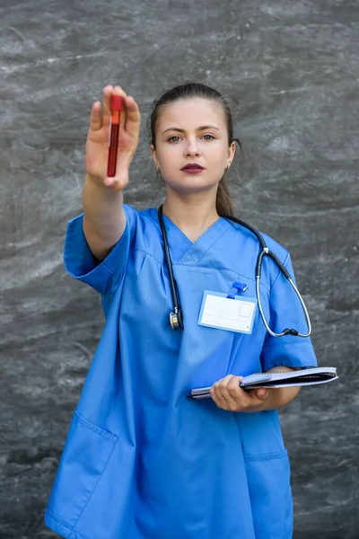
[[[294,336],[297,336],[297,337],[309,337],[311,335],[311,320],[309,318],[307,308],[306,308],[306,306],[305,306],[305,304],[303,302],[302,296],[299,293],[298,288],[294,285],[293,279],[291,278],[289,272],[286,270],[285,266],[278,259],[276,254],[274,254],[274,252],[271,252],[269,250],[269,248],[267,247],[267,243],[263,239],[263,236],[258,232],[258,230],[256,228],[249,225],[248,223],[245,223],[244,221],[241,221],[241,219],[237,219],[236,217],[226,216],[226,215],[222,215],[221,217],[223,217],[224,219],[229,219],[230,221],[232,221],[233,223],[237,223],[238,225],[244,226],[245,228],[250,230],[250,232],[255,234],[257,236],[257,238],[258,238],[258,241],[259,241],[260,247],[261,247],[261,252],[259,252],[259,254],[258,254],[258,259],[257,259],[257,264],[256,264],[256,295],[257,295],[259,313],[260,313],[260,316],[261,316],[261,318],[263,320],[264,325],[266,326],[266,330],[268,331],[268,333],[270,333],[270,335],[272,335],[273,337],[283,337],[284,335],[294,335]],[[173,304],[173,310],[170,313],[171,328],[173,330],[175,330],[175,331],[183,330],[184,325],[183,325],[182,311],[180,309],[180,298],[179,298],[179,293],[178,293],[176,280],[173,277],[173,269],[172,269],[172,263],[171,263],[171,257],[170,257],[170,248],[169,248],[169,243],[168,243],[166,227],[165,227],[164,222],[163,222],[162,206],[160,206],[160,208],[158,208],[158,220],[160,222],[160,226],[161,226],[161,230],[162,230],[163,252],[164,252],[164,257],[166,259],[167,270],[169,272],[169,277],[170,277],[171,296],[172,296],[172,304]],[[307,326],[308,326],[308,332],[307,333],[300,333],[299,331],[296,331],[296,330],[293,330],[293,329],[286,329],[286,330],[282,331],[281,333],[275,333],[274,331],[272,331],[269,328],[269,326],[267,324],[266,317],[265,317],[264,312],[263,312],[262,303],[260,301],[260,293],[259,293],[259,283],[260,283],[260,276],[261,276],[261,271],[262,271],[262,260],[263,260],[263,257],[265,255],[269,256],[273,261],[276,262],[276,265],[283,272],[283,274],[285,275],[285,278],[287,278],[288,282],[293,287],[293,290],[294,290],[295,294],[298,296],[298,298],[299,298],[299,300],[300,300],[300,302],[302,304],[302,309],[304,311],[305,320],[306,320],[306,323],[307,323]]]

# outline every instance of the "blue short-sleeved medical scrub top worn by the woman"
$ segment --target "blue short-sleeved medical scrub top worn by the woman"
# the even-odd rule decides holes
[[[241,281],[244,296],[256,296],[258,239],[223,217],[191,243],[164,216],[185,324],[173,331],[157,210],[124,208],[125,233],[100,264],[83,215],[67,226],[66,270],[101,294],[106,324],[47,525],[69,539],[291,538],[290,465],[277,411],[233,413],[187,395],[230,373],[316,366],[311,340],[271,337],[258,309],[250,335],[198,325],[206,289],[228,293]],[[293,275],[288,252],[264,237]],[[260,287],[275,331],[306,331],[292,287],[267,257]]]

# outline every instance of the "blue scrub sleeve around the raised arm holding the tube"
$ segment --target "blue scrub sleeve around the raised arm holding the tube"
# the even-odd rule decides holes
[[[101,263],[93,257],[83,234],[83,214],[69,221],[66,228],[64,246],[66,271],[72,277],[90,285],[102,296],[114,293],[126,270],[135,229],[136,210],[126,205],[123,208],[126,215],[125,232]]]

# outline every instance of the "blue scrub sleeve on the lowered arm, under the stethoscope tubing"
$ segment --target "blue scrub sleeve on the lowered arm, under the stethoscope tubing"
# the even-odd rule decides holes
[[[292,276],[294,285],[297,286],[289,253],[287,253],[284,265]],[[282,272],[279,272],[270,290],[269,313],[269,328],[276,333],[281,333],[287,328],[304,334],[308,332],[302,304]],[[293,335],[273,337],[268,332],[260,362],[263,372],[280,366],[305,368],[318,365],[310,337],[302,338]]]

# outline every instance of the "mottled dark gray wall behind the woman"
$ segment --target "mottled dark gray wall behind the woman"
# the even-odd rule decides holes
[[[240,103],[237,213],[290,250],[320,365],[340,374],[281,413],[294,537],[359,538],[358,1],[0,6],[1,539],[55,537],[43,511],[103,328],[100,296],[62,264],[92,102],[121,84],[145,120],[186,80]],[[157,205],[160,187],[143,130],[127,203]]]

